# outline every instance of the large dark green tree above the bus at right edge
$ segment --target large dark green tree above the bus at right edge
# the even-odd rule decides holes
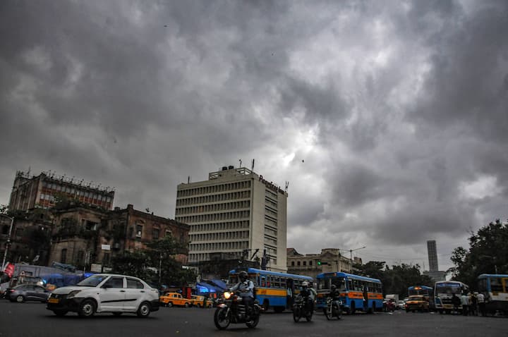
[[[452,254],[452,278],[476,287],[480,274],[508,273],[508,226],[499,219],[469,238],[469,250],[456,247]]]

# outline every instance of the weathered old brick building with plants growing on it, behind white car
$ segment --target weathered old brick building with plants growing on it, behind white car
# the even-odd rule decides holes
[[[188,226],[172,219],[135,210],[113,211],[71,204],[54,210],[50,262],[89,269],[91,264],[111,266],[111,258],[123,252],[147,248],[147,243],[172,235],[188,243]],[[186,263],[186,255],[176,257]]]

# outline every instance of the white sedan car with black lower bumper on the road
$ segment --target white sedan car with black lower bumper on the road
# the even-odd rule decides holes
[[[47,310],[56,316],[77,312],[90,317],[95,312],[123,312],[147,317],[159,310],[159,292],[133,276],[95,274],[75,286],[56,288],[47,299]]]

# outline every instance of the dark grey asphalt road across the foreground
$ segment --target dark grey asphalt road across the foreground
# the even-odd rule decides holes
[[[69,313],[56,317],[42,303],[0,300],[0,337],[143,337],[143,336],[508,336],[508,318],[464,317],[433,313],[354,314],[327,321],[317,312],[310,322],[295,323],[291,312],[262,314],[260,324],[248,329],[231,324],[219,331],[213,323],[214,309],[162,307],[150,317],[133,314],[119,317],[96,314],[82,319]]]

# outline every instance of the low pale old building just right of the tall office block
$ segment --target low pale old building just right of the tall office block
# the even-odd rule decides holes
[[[356,263],[356,261],[354,262]],[[287,249],[287,269],[290,274],[315,278],[317,274],[332,271],[351,272],[351,259],[341,255],[337,248],[325,248],[320,254],[299,254],[294,248]]]

